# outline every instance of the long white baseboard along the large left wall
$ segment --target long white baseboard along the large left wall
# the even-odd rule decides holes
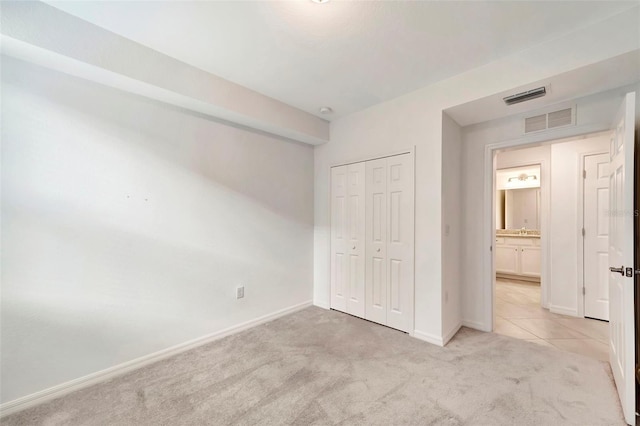
[[[170,348],[163,349],[161,351],[154,352],[149,355],[124,362],[122,364],[114,365],[113,367],[91,373],[87,376],[79,377],[77,379],[61,383],[59,385],[41,390],[31,395],[26,395],[21,398],[14,399],[13,401],[5,402],[4,404],[0,405],[0,417],[17,413],[35,405],[39,405],[52,399],[59,398],[68,393],[75,392],[77,390],[84,389],[97,383],[110,380],[114,377],[121,376],[133,370],[137,370],[162,359],[177,355],[182,352],[186,352],[190,349],[197,348],[198,346],[206,345],[207,343],[222,339],[223,337],[227,337],[231,334],[247,330],[257,325],[264,324],[276,318],[292,314],[309,306],[312,306],[311,301],[299,303],[297,305],[293,305],[288,308],[280,309],[279,311],[263,315],[259,318],[249,320],[229,328],[225,328],[224,330],[220,330],[215,333],[211,333],[206,336],[181,343],[179,345],[171,346]]]

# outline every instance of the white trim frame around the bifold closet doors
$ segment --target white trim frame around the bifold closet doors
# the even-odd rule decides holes
[[[381,158],[389,158],[389,157],[395,157],[397,155],[404,155],[404,154],[409,154],[409,158],[411,159],[411,165],[413,167],[413,180],[411,182],[411,192],[413,193],[413,226],[414,226],[414,232],[413,232],[413,274],[411,277],[411,301],[412,301],[412,315],[411,315],[411,325],[409,327],[409,332],[408,334],[412,337],[414,337],[415,335],[415,326],[416,326],[416,233],[415,233],[415,218],[416,218],[416,147],[415,145],[411,145],[409,147],[407,147],[406,149],[401,149],[401,150],[397,150],[397,151],[391,151],[391,152],[386,152],[386,153],[381,153],[378,155],[370,155],[370,156],[366,156],[366,157],[358,157],[356,159],[351,159],[351,160],[346,160],[346,161],[338,161],[338,162],[332,162],[329,164],[329,167],[327,168],[328,170],[328,186],[327,188],[329,188],[329,190],[327,191],[327,199],[328,199],[328,206],[327,206],[327,217],[329,218],[328,223],[329,223],[329,244],[327,244],[328,247],[328,257],[327,259],[329,259],[329,262],[327,262],[327,268],[328,268],[328,274],[327,277],[329,278],[329,285],[327,286],[327,300],[328,302],[328,306],[326,307],[326,309],[331,309],[331,253],[332,253],[332,246],[331,246],[331,169],[334,167],[340,167],[340,166],[348,166],[349,164],[355,164],[355,163],[362,163],[365,161],[372,161],[372,160],[378,160]],[[365,320],[366,321],[366,320]]]

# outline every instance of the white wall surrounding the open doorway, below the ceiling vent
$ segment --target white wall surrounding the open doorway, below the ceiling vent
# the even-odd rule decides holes
[[[490,311],[485,310],[485,283],[482,277],[488,274],[488,262],[483,260],[487,244],[484,240],[482,226],[486,220],[485,213],[470,209],[481,209],[485,197],[485,148],[487,145],[513,142],[519,145],[557,140],[573,135],[593,133],[609,128],[613,116],[622,101],[623,94],[630,90],[638,90],[640,86],[628,86],[604,93],[577,99],[576,126],[569,126],[547,132],[523,137],[522,117],[506,117],[500,120],[466,126],[463,135],[463,188],[464,210],[467,212],[463,222],[463,320],[464,323],[483,330],[490,330],[488,318]],[[515,152],[515,151],[514,151]],[[508,154],[505,152],[504,154]],[[501,154],[502,155],[502,154]],[[517,154],[514,154],[517,155]],[[543,177],[544,178],[544,177]],[[543,193],[544,196],[544,193]],[[544,208],[544,199],[543,205]],[[543,233],[544,238],[544,233]],[[551,253],[551,249],[549,250]],[[551,254],[550,254],[551,255]],[[487,263],[487,264],[485,264]],[[544,271],[544,269],[543,269]],[[482,300],[482,303],[479,301]],[[549,301],[551,304],[551,301]],[[559,306],[559,305],[558,305]]]

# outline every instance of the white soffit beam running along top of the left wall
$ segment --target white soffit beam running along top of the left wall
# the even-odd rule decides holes
[[[1,2],[2,53],[310,145],[329,122],[40,2]]]

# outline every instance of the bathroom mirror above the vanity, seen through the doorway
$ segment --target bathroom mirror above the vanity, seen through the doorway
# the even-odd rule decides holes
[[[502,189],[496,194],[496,229],[540,229],[540,188]]]

